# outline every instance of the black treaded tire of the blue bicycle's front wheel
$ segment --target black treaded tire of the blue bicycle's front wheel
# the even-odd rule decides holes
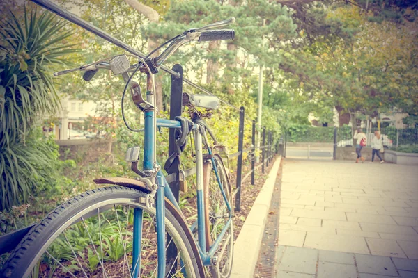
[[[52,242],[58,238],[60,231],[62,232],[69,227],[69,225],[74,224],[76,215],[78,218],[79,215],[91,213],[94,209],[100,207],[100,204],[103,204],[104,207],[109,206],[112,202],[114,204],[116,204],[116,202],[128,202],[145,196],[146,193],[133,188],[112,186],[89,190],[86,193],[82,193],[82,195],[78,195],[68,202],[61,204],[26,234],[20,244],[12,254],[10,254],[8,261],[3,267],[1,277],[29,277],[34,266],[42,257],[43,250],[46,250],[45,248],[49,247]],[[146,208],[140,204],[136,204],[136,206],[146,210]],[[188,274],[187,276],[196,278],[201,277],[196,261],[199,254],[195,254],[179,221],[169,210],[167,210],[167,208],[165,217],[166,231],[170,232],[171,236],[175,237],[174,241],[184,248],[182,250],[187,251],[183,253],[185,256],[184,261],[189,262],[186,264],[189,266],[185,268]],[[182,260],[183,254],[181,256]]]

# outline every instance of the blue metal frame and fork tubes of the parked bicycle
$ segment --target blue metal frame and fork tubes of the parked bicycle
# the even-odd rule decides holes
[[[145,111],[144,112],[144,163],[143,167],[144,170],[154,170],[154,161],[153,158],[155,157],[156,146],[154,145],[155,142],[155,126],[154,126],[154,117],[155,112],[152,111]],[[167,127],[169,129],[180,129],[181,124],[176,120],[165,120],[165,119],[157,119],[157,127]],[[222,239],[226,234],[226,230],[229,229],[229,226],[232,223],[232,210],[231,204],[229,204],[229,200],[226,198],[226,194],[224,192],[224,188],[222,186],[221,180],[219,178],[219,172],[216,167],[215,159],[211,158],[212,160],[212,167],[215,172],[215,176],[217,178],[217,182],[219,184],[219,188],[222,192],[222,196],[226,202],[226,206],[229,209],[230,215],[229,220],[226,222],[224,229],[222,229],[221,233],[219,234],[218,238],[215,240],[215,243],[210,246],[209,250],[206,247],[206,227],[205,227],[205,215],[204,215],[204,198],[203,198],[203,149],[202,149],[202,134],[197,126],[194,124],[192,131],[194,132],[194,144],[196,147],[196,177],[197,177],[197,232],[199,242],[197,246],[199,247],[199,254],[201,256],[201,260],[203,265],[210,265],[212,263],[212,256],[215,254],[217,247],[219,247],[219,243],[221,243]],[[212,154],[210,147],[208,147],[208,153]],[[180,211],[180,207],[178,206],[178,202],[176,202],[176,198],[174,197],[173,193],[171,192],[171,188],[169,187],[167,180],[164,177],[162,172],[157,173],[157,198],[155,202],[156,208],[156,222],[157,222],[157,254],[158,254],[158,277],[163,278],[165,275],[165,266],[166,266],[166,243],[165,243],[165,205],[164,205],[164,197],[167,197],[169,201],[176,206],[178,211]],[[136,208],[134,211],[134,233],[133,233],[133,252],[132,252],[132,274],[133,277],[138,277],[139,269],[140,269],[140,257],[141,257],[141,238],[142,238],[142,209]],[[232,235],[231,235],[232,236]],[[208,250],[208,251],[206,251]]]

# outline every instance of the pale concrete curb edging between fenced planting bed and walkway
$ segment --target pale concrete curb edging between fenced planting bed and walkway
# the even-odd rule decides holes
[[[263,188],[261,188],[235,241],[231,278],[254,277],[254,270],[258,260],[258,253],[260,252],[261,240],[263,239],[265,222],[272,200],[280,161],[281,156],[274,161],[272,170],[270,170],[268,178]]]

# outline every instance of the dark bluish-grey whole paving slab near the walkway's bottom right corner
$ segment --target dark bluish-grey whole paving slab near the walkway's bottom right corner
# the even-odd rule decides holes
[[[355,259],[359,272],[398,276],[395,265],[389,257],[355,254]]]

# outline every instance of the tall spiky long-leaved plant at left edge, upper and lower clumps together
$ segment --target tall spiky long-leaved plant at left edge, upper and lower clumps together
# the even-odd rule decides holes
[[[0,20],[0,209],[26,202],[51,173],[53,148],[28,136],[38,117],[60,106],[51,67],[75,51],[64,43],[72,34],[65,25],[26,8],[22,20],[13,13]]]

